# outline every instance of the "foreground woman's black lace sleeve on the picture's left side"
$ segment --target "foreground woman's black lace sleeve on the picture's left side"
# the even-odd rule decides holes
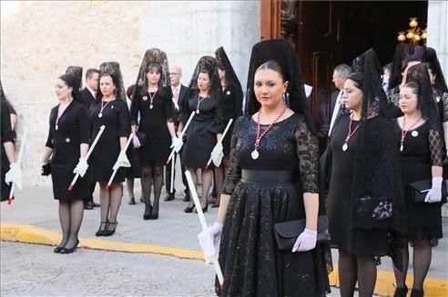
[[[231,195],[237,183],[241,179],[241,167],[239,167],[239,150],[237,148],[238,143],[238,126],[239,120],[235,124],[232,133],[232,139],[230,143],[230,154],[229,154],[229,169],[226,173],[226,180],[222,186],[222,193]]]

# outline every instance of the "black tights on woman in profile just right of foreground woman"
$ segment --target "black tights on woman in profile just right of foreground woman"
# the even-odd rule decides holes
[[[339,250],[339,282],[341,297],[353,296],[356,282],[360,297],[371,297],[375,289],[376,263],[373,257]]]

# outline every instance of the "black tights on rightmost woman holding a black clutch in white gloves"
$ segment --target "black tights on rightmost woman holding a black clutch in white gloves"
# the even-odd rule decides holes
[[[403,271],[399,271],[395,266],[395,281],[398,288],[403,288],[406,282],[406,276],[409,266],[409,247],[408,244],[402,249],[402,266]],[[423,282],[431,265],[432,250],[431,242],[428,239],[416,239],[413,242],[413,283],[412,289],[423,291]]]

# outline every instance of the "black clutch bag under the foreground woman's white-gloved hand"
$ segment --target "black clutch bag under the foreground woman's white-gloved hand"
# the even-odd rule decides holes
[[[291,251],[300,233],[305,230],[306,219],[274,223],[274,236],[280,251]],[[328,218],[318,218],[317,243],[330,243]]]

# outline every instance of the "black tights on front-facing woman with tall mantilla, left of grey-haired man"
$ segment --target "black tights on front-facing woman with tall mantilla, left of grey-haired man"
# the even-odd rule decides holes
[[[141,167],[141,186],[146,207],[151,207],[151,184],[154,182],[153,212],[158,213],[158,201],[163,186],[163,166],[161,164],[145,164]]]

